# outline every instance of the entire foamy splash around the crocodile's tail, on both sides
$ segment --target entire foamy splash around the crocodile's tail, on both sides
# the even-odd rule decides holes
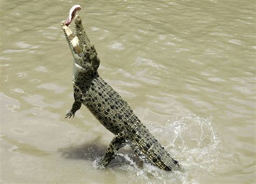
[[[198,175],[214,177],[219,167],[233,162],[233,154],[225,148],[220,134],[214,130],[211,117],[205,119],[195,114],[186,114],[169,120],[163,127],[147,127],[180,162],[184,171],[166,172],[145,163],[139,167],[132,158],[134,155],[118,153],[118,157],[126,161],[122,162],[119,169],[127,172],[131,183],[197,183],[200,180]]]

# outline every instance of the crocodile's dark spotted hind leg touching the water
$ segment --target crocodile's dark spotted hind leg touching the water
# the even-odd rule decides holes
[[[127,134],[125,134],[124,132],[120,132],[112,139],[110,145],[106,148],[105,154],[102,156],[102,158],[100,158],[100,161],[97,163],[97,169],[106,167],[109,162],[114,159],[114,156],[116,156],[118,149],[125,146],[126,137]]]

